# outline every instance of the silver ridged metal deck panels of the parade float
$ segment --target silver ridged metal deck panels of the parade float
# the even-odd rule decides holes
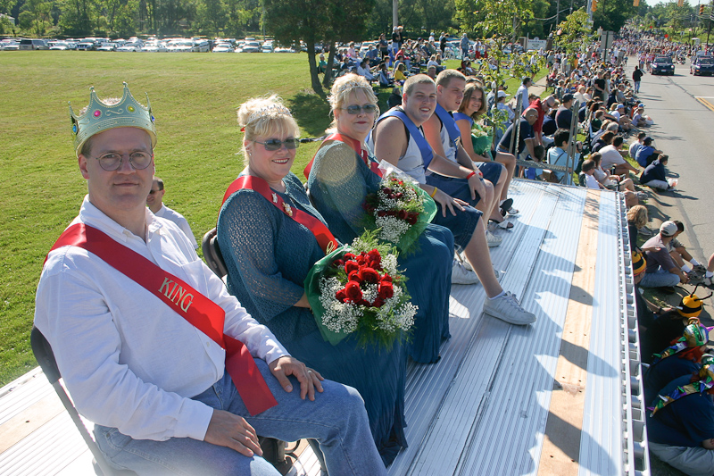
[[[452,288],[452,338],[442,347],[441,361],[409,367],[410,447],[389,468],[391,475],[537,471],[585,189],[521,180],[511,188],[521,216],[513,230],[499,230],[506,238],[491,250],[492,261],[507,271],[503,288],[523,295],[521,302],[538,322],[520,327],[484,316],[482,287]],[[649,474],[622,198],[603,192],[599,212],[585,417],[581,453],[573,458],[582,474]],[[0,424],[54,392],[38,376],[29,374],[12,392],[0,389]],[[623,438],[631,435],[635,438]],[[90,459],[62,413],[0,455],[0,473],[91,474]],[[291,474],[320,474],[309,447]]]

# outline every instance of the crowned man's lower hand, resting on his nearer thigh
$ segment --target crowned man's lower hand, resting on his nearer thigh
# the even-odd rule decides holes
[[[253,454],[262,456],[258,435],[253,427],[243,417],[223,410],[213,410],[203,441],[235,449],[241,455],[248,457]]]

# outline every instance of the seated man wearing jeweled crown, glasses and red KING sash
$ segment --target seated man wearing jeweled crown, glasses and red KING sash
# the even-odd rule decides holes
[[[88,195],[47,255],[35,325],[107,460],[138,474],[279,474],[260,434],[316,438],[332,474],[384,474],[356,390],[288,355],[145,207],[148,97],[125,83],[102,102],[93,88],[87,111],[70,112]]]

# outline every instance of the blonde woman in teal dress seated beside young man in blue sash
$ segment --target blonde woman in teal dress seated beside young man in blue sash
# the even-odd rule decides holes
[[[330,95],[333,126],[347,140],[326,141],[315,154],[308,179],[312,203],[328,222],[336,238],[349,242],[361,235],[365,197],[379,188],[372,169],[375,158],[365,140],[378,116],[377,96],[369,83],[355,74],[336,79]],[[345,139],[346,138],[346,139]],[[400,256],[409,278],[412,303],[419,306],[408,352],[420,363],[436,362],[439,347],[449,337],[449,293],[453,235],[438,225],[428,225],[419,237],[417,251]]]

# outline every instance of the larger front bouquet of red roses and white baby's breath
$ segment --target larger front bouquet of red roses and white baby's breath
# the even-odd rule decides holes
[[[322,337],[336,345],[356,332],[363,345],[389,347],[409,331],[417,306],[396,266],[395,250],[380,245],[374,232],[315,263],[305,293]]]

